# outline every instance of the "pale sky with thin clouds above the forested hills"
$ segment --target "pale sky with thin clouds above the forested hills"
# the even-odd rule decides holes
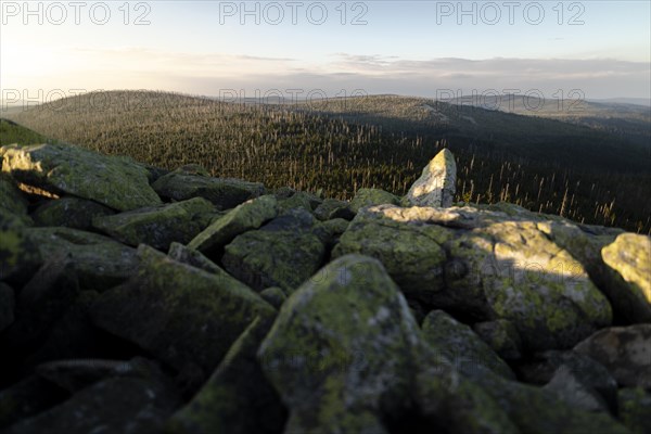
[[[0,1],[0,99],[651,98],[650,1]]]

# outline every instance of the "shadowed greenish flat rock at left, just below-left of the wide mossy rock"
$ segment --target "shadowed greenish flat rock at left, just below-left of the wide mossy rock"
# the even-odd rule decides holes
[[[106,290],[138,268],[135,248],[104,235],[71,228],[29,228],[26,233],[40,257],[69,256],[85,289]]]

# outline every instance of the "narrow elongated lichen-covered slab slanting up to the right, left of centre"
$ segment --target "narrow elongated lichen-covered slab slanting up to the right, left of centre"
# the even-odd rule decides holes
[[[278,201],[272,195],[238,205],[199,233],[188,247],[209,253],[224,247],[240,233],[259,228],[278,215]]]

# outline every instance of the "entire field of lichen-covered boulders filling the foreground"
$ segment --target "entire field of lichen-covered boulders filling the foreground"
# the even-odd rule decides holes
[[[0,155],[3,433],[651,433],[651,240],[456,206],[447,151],[350,202]]]

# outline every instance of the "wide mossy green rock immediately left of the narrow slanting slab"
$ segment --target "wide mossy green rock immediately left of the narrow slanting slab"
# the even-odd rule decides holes
[[[148,244],[167,251],[177,241],[187,244],[215,217],[214,205],[194,197],[168,205],[135,209],[114,216],[97,217],[92,225],[114,239],[137,247]]]

